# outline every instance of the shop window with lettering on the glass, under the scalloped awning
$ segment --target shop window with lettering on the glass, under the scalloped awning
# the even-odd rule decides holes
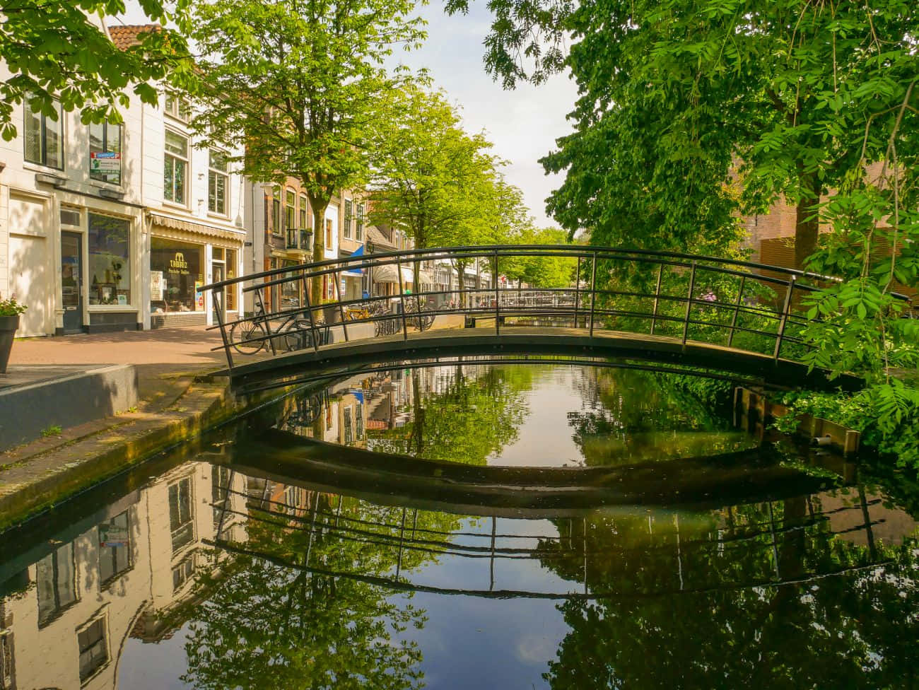
[[[204,311],[204,245],[150,238],[150,311]]]

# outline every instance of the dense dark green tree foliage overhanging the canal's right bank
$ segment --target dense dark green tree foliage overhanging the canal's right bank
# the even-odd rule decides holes
[[[855,371],[862,424],[919,467],[919,7],[908,0],[491,0],[485,63],[512,86],[569,70],[572,134],[549,209],[593,243],[729,251],[785,198],[796,261],[842,281],[804,300],[806,361]],[[448,0],[452,12],[468,0]],[[823,230],[824,232],[818,232]],[[797,302],[796,302],[797,304]]]

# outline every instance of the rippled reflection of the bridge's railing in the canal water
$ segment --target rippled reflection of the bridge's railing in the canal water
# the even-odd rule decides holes
[[[251,469],[237,471],[252,477]],[[346,578],[397,592],[630,601],[802,585],[871,571],[891,562],[889,554],[876,548],[873,533],[892,514],[885,512],[879,497],[860,489],[847,498],[837,492],[815,492],[785,499],[760,498],[747,504],[729,502],[694,519],[686,511],[669,508],[636,515],[634,506],[544,514],[507,511],[504,516],[488,515],[487,511],[470,513],[468,504],[443,503],[438,510],[430,510],[408,507],[398,500],[386,506],[353,493],[310,488],[288,477],[283,485],[304,490],[298,494],[300,500],[291,504],[286,498],[269,496],[269,486],[275,481],[279,478],[266,480],[261,495],[235,492],[245,501],[244,506],[238,501],[233,503],[235,507],[222,504],[226,519],[244,518],[250,526],[248,540],[234,540],[218,529],[208,543],[314,577]],[[230,488],[227,491],[234,493]],[[445,511],[455,515],[451,509],[461,516],[459,523],[449,529],[437,528],[435,518]],[[253,540],[258,524],[274,530],[274,534],[301,532],[298,541],[305,542],[306,549],[296,557],[279,547],[278,537]],[[838,562],[817,558],[834,539],[858,545],[857,558]],[[342,568],[340,562],[334,567],[315,556],[320,543],[325,553],[369,549],[374,555],[367,562],[358,558],[350,568]],[[712,569],[721,558],[756,566],[737,573]],[[406,565],[408,560],[414,565]],[[380,561],[393,565],[379,572]],[[459,566],[460,562],[471,562],[473,571]],[[610,586],[610,564],[624,564],[628,571],[635,563],[656,573],[651,583],[635,585],[619,576],[615,578],[617,587]],[[701,563],[707,568],[702,569]],[[482,586],[449,586],[453,578],[445,573],[458,567],[463,582],[479,580]],[[568,583],[569,588],[519,588],[519,583],[527,580],[528,569],[534,568],[555,572],[559,584]]]

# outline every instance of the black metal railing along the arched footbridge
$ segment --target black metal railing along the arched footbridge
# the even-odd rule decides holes
[[[532,284],[540,280],[542,268],[554,271],[555,287]],[[447,283],[437,282],[445,275],[450,277]],[[369,294],[363,289],[357,295],[343,294],[342,277],[357,277],[362,286],[371,287]],[[316,280],[328,295],[320,303],[311,296]],[[687,342],[701,342],[766,354],[775,361],[780,356],[800,361],[807,350],[803,329],[817,321],[807,317],[805,298],[837,280],[712,256],[490,245],[328,259],[201,289],[213,293],[218,318],[213,328],[221,331],[221,347],[232,370],[234,355],[319,351],[333,343],[369,342],[380,336],[409,341],[439,317],[456,316],[467,326],[484,322],[497,335],[511,324],[566,327],[591,338],[603,332],[663,336],[677,339],[684,349]],[[225,290],[239,283],[244,294],[252,294],[254,309],[226,322]]]

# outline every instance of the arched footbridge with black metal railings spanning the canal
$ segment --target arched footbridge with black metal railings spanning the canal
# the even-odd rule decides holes
[[[855,388],[806,364],[808,299],[833,280],[711,256],[495,245],[330,259],[202,289],[214,295],[227,373],[246,390],[464,357]],[[239,283],[252,311],[227,319],[226,291]]]

